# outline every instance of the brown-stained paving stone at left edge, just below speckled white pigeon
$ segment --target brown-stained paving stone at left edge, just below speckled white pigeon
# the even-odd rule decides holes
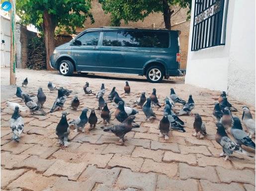
[[[33,144],[22,144],[11,141],[2,145],[1,150],[12,152],[12,154],[19,154],[32,146]]]

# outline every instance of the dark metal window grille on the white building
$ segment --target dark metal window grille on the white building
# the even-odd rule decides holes
[[[225,41],[222,42],[225,1],[227,0],[195,0],[191,51],[225,44]]]

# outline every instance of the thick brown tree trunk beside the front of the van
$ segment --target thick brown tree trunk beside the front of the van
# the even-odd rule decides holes
[[[46,68],[47,70],[53,70],[50,66],[50,56],[52,55],[55,49],[55,23],[53,21],[52,15],[48,13],[47,10],[44,11],[44,41],[45,41],[45,51],[46,51]]]

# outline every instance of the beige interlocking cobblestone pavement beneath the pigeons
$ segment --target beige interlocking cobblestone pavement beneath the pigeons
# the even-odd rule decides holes
[[[1,69],[1,85],[7,85],[7,71]],[[28,76],[28,87],[22,88],[27,93],[36,95],[38,87],[43,88],[47,96],[46,112],[50,111],[57,96],[57,92],[49,92],[48,81],[72,89],[73,93],[64,105],[68,120],[76,119],[84,107],[97,108],[95,97],[84,95],[82,87],[85,81],[90,83],[94,92],[102,82],[105,83],[105,99],[113,86],[121,94],[125,85],[125,76],[122,79],[93,75],[64,77],[56,71],[28,69],[19,69],[16,76],[18,85]],[[145,122],[143,112],[137,108],[140,112],[135,121],[141,126],[126,135],[126,146],[120,146],[116,136],[100,128],[102,121],[96,110],[96,128],[85,133],[75,133],[72,129],[69,147],[62,149],[55,134],[61,111],[46,116],[22,112],[25,127],[17,144],[10,140],[12,111],[6,108],[2,99],[1,191],[255,191],[255,158],[235,154],[225,162],[219,157],[222,149],[214,140],[216,127],[212,116],[219,92],[184,84],[183,78],[152,84],[142,78],[130,77],[129,83],[131,94],[123,94],[122,98],[131,105],[142,91],[149,96],[153,87],[157,89],[162,105],[171,87],[184,100],[192,94],[195,101],[193,112],[202,115],[208,135],[204,139],[193,137],[194,117],[182,116],[186,132],[173,131],[170,139],[165,141],[159,138],[158,129],[163,107],[153,108],[157,119],[151,122]],[[5,98],[7,94],[11,95],[9,101],[22,104],[14,93],[15,87],[1,92]],[[75,94],[81,101],[78,111],[70,107]],[[228,99],[239,110],[235,115],[241,119],[244,104],[229,96]],[[113,113],[114,106],[108,106]],[[180,108],[180,105],[175,106],[176,111]],[[251,111],[255,115],[255,108],[251,107]],[[113,115],[111,123],[118,123]],[[246,149],[255,156],[253,150]]]

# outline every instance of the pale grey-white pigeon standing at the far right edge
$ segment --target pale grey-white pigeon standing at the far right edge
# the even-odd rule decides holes
[[[255,120],[253,119],[250,109],[247,106],[243,107],[242,121],[249,131],[249,137],[252,138],[252,136],[255,134]]]

